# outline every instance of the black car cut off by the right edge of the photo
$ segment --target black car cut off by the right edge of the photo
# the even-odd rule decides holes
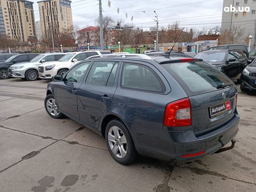
[[[242,71],[240,89],[243,92],[256,90],[256,58]]]

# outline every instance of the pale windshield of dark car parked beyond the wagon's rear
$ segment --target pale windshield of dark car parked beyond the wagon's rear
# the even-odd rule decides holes
[[[222,62],[225,60],[226,52],[201,52],[195,58],[201,58],[205,62]]]

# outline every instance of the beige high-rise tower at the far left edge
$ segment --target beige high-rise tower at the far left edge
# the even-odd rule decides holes
[[[33,2],[0,0],[0,33],[14,41],[36,39]]]

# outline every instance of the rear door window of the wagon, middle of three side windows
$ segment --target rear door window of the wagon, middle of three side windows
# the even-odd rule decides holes
[[[92,65],[86,83],[97,86],[113,86],[118,63],[116,62],[95,62]]]

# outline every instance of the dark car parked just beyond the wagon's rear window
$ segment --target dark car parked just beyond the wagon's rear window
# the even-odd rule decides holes
[[[247,66],[247,58],[243,52],[228,50],[203,51],[195,55],[195,58],[201,58],[204,62],[211,64],[222,71],[233,81],[240,81],[242,70]]]

